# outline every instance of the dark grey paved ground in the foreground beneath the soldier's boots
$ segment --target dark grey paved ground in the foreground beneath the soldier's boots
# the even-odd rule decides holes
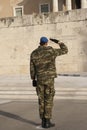
[[[87,130],[87,101],[55,100],[50,130]],[[0,104],[0,130],[36,130],[40,127],[38,104],[10,102]]]

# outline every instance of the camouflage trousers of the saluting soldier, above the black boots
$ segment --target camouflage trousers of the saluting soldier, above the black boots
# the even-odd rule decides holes
[[[53,97],[55,95],[54,78],[38,80],[36,92],[38,95],[40,118],[52,118]]]

